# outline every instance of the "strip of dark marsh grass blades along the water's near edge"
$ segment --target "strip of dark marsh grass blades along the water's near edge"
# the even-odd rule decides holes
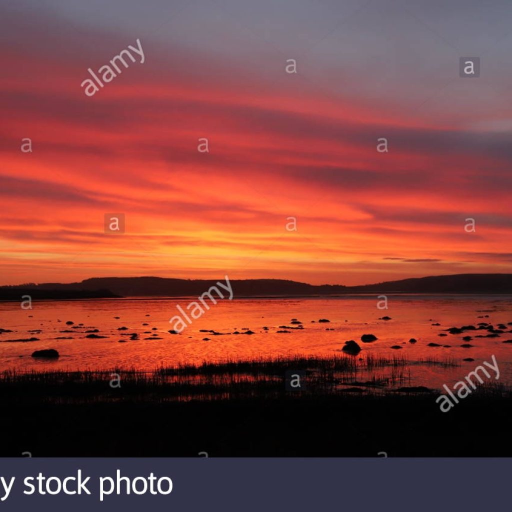
[[[411,362],[401,356],[334,354],[329,357],[282,356],[218,363],[205,361],[199,365],[162,366],[151,372],[128,367],[80,372],[5,371],[0,374],[0,391],[4,402],[30,402],[34,399],[44,403],[94,403],[270,398],[284,393],[285,372],[294,370],[306,373],[303,394],[339,394],[346,385],[357,381],[365,392],[378,393],[384,388],[410,382],[407,371],[410,364],[443,368],[457,366],[448,359],[428,358]],[[120,386],[117,385],[117,375]]]

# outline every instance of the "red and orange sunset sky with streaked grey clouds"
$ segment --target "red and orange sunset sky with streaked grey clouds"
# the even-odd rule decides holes
[[[3,2],[0,284],[510,272],[511,15],[473,0]],[[87,96],[88,69],[137,39],[144,62]],[[459,76],[461,57],[480,77]],[[113,212],[122,234],[105,233]]]

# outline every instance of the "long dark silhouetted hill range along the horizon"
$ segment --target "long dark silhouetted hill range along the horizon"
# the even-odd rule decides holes
[[[80,283],[24,284],[0,287],[0,300],[33,298],[99,298],[199,296],[224,279],[91,278]],[[402,279],[372,285],[310,285],[284,279],[230,280],[235,297],[315,296],[349,293],[512,293],[512,274],[456,274]],[[13,298],[11,298],[13,297]]]

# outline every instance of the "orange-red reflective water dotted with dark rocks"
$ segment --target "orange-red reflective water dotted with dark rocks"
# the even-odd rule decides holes
[[[180,362],[200,363],[229,359],[250,359],[283,355],[333,355],[349,339],[354,339],[362,352],[386,357],[405,357],[412,364],[404,369],[409,385],[440,388],[443,383],[455,382],[474,370],[483,360],[491,361],[494,354],[500,368],[500,382],[512,384],[510,354],[512,332],[497,338],[475,338],[487,331],[466,331],[460,335],[438,336],[450,327],[477,325],[487,322],[496,326],[512,322],[512,296],[388,296],[389,309],[377,309],[375,296],[350,296],[332,298],[253,298],[224,300],[212,305],[198,319],[193,319],[181,334],[169,334],[173,328],[169,319],[180,314],[176,305],[184,309],[193,298],[123,298],[95,301],[36,302],[32,310],[23,310],[18,303],[0,303],[0,328],[14,332],[0,334],[0,342],[10,339],[37,337],[28,343],[0,343],[0,371],[61,370],[110,370],[116,367],[135,367],[151,371],[173,366]],[[146,316],[148,315],[148,316]],[[379,320],[384,315],[390,321]],[[488,315],[488,317],[486,317]],[[119,316],[119,319],[115,319]],[[290,326],[292,318],[303,322],[303,330],[277,333],[279,326]],[[327,318],[330,323],[318,323]],[[60,320],[60,322],[58,322]],[[66,321],[74,322],[67,326]],[[315,321],[312,323],[312,321]],[[80,328],[73,328],[82,323]],[[143,326],[147,323],[147,326]],[[432,324],[439,323],[440,326]],[[129,328],[119,331],[119,327]],[[268,331],[263,329],[269,328]],[[156,328],[156,330],[152,330]],[[246,334],[211,335],[199,332],[212,329],[222,333],[248,328]],[[41,330],[40,333],[29,332]],[[86,330],[99,329],[101,339],[86,338]],[[334,329],[334,330],[326,330]],[[510,331],[512,325],[507,326]],[[60,331],[69,330],[70,333]],[[140,339],[132,341],[137,332]],[[147,332],[144,334],[144,332]],[[144,339],[157,334],[162,339]],[[360,342],[362,334],[374,334],[374,343]],[[473,336],[464,342],[463,336]],[[55,339],[69,336],[72,339]],[[210,338],[204,341],[203,338]],[[410,338],[418,341],[412,345]],[[126,343],[119,343],[119,340]],[[451,348],[428,347],[430,342],[450,345]],[[463,343],[472,348],[460,347]],[[393,345],[403,347],[391,349]],[[31,357],[34,350],[54,348],[60,353],[58,360],[37,360]],[[414,364],[421,358],[452,358],[457,368],[442,368]],[[475,361],[466,362],[472,357]]]

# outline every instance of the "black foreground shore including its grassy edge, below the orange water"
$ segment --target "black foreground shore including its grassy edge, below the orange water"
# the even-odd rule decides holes
[[[371,362],[395,370],[400,364]],[[314,364],[306,390],[285,391],[289,364]],[[120,380],[110,372],[6,373],[0,455],[512,456],[512,395],[505,387],[482,386],[442,413],[438,392],[404,386],[401,378],[392,386],[387,379],[353,381],[351,365],[343,357],[242,361],[150,374],[117,370]]]

